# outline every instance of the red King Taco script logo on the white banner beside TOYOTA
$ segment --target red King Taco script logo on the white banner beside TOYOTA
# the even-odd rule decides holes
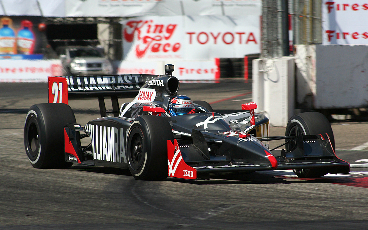
[[[153,20],[128,21],[123,30],[124,39],[133,42],[136,38],[135,56],[144,57],[152,53],[176,53],[180,50],[179,42],[170,42],[177,24],[155,24]]]

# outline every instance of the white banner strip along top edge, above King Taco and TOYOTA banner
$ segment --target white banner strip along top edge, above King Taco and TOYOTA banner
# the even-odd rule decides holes
[[[67,17],[260,15],[261,0],[65,0]]]

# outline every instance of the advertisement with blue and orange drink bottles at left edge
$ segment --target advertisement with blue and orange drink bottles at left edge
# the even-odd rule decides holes
[[[0,17],[0,59],[42,59],[41,17]]]

